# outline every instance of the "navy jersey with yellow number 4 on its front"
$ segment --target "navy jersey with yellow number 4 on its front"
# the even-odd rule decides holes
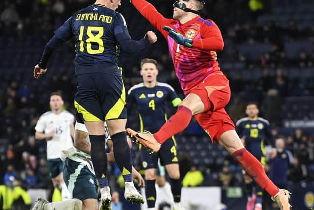
[[[135,105],[139,114],[141,132],[148,130],[154,133],[167,120],[167,101],[170,101],[174,107],[181,103],[181,99],[170,85],[157,82],[155,87],[148,88],[144,83],[140,83],[128,91],[128,113]]]

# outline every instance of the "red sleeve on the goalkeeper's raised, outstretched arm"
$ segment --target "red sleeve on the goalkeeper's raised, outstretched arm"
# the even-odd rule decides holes
[[[146,0],[132,0],[132,4],[163,36],[167,37],[168,32],[163,26],[173,26],[173,19],[163,17],[156,8]]]

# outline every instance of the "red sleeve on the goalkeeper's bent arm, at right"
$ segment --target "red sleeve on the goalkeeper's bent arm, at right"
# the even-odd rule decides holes
[[[201,27],[201,37],[201,39],[193,40],[193,47],[210,51],[222,51],[224,48],[221,32],[218,26],[211,20],[204,21]]]

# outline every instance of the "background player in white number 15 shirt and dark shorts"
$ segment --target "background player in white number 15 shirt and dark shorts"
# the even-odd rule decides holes
[[[73,147],[74,115],[62,109],[64,104],[61,95],[53,92],[50,95],[51,111],[40,116],[35,130],[38,140],[47,141],[47,164],[52,177],[53,186],[61,190],[62,199],[69,199],[70,193],[64,183],[60,159],[61,151]]]

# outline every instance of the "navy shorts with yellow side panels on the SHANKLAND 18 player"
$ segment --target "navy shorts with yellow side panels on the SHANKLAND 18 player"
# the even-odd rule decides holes
[[[84,121],[126,119],[126,93],[121,75],[79,74],[74,106]]]

